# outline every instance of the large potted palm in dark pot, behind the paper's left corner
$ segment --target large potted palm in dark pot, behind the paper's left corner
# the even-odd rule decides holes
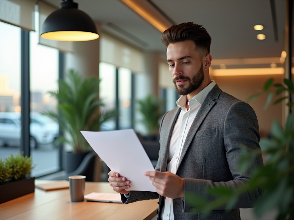
[[[59,101],[59,111],[45,111],[43,114],[59,122],[63,135],[56,143],[68,143],[73,151],[66,153],[66,172],[72,172],[80,165],[89,152],[89,144],[81,130],[99,131],[102,123],[117,115],[115,109],[101,110],[104,106],[98,98],[100,79],[83,77],[69,69],[65,80],[59,80],[59,91],[49,92]]]

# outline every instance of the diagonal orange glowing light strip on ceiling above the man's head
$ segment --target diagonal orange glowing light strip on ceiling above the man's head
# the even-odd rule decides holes
[[[128,5],[131,9],[136,11],[139,15],[141,15],[146,21],[151,23],[155,28],[157,28],[161,33],[169,28],[169,26],[166,26],[163,22],[161,22],[159,19],[155,18],[155,16],[152,16],[145,8],[143,8],[141,5],[137,4],[133,0],[121,0],[126,5]]]

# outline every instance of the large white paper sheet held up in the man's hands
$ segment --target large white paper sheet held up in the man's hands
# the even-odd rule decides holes
[[[131,181],[126,190],[156,192],[152,181],[144,175],[154,171],[154,167],[133,129],[81,133],[112,171]]]

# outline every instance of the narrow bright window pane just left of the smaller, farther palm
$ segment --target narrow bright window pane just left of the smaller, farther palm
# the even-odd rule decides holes
[[[131,128],[131,80],[132,71],[118,69],[119,129]]]

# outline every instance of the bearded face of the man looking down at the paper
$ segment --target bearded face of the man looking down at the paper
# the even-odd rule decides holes
[[[204,80],[203,63],[192,40],[169,44],[166,55],[179,95],[188,95],[201,86]]]

